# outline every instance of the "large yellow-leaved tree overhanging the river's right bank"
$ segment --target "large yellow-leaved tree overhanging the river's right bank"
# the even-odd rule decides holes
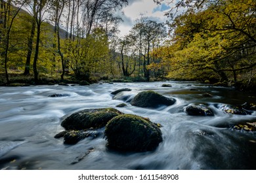
[[[188,67],[193,73],[206,71],[208,75],[215,72],[221,80],[232,77],[234,82],[238,74],[251,73],[256,65],[255,1],[178,3],[187,8],[186,13],[176,16],[169,25],[173,29],[172,44],[179,47],[171,59],[180,63],[180,68]]]

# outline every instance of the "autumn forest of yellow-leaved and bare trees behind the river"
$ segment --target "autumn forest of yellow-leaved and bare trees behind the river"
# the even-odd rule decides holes
[[[172,7],[168,21],[141,16],[121,37],[116,12],[127,0],[1,0],[1,86],[175,79],[255,88],[254,0],[154,2]]]

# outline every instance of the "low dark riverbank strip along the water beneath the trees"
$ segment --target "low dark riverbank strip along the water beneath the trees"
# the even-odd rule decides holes
[[[9,74],[10,82],[9,84],[6,83],[5,74],[0,73],[0,86],[30,86],[35,85],[33,75],[23,75],[20,73],[11,73]],[[165,80],[172,80],[171,78],[164,78],[154,80],[155,81],[165,81]],[[182,80],[182,81],[193,81],[193,80]],[[77,80],[74,76],[68,75],[65,76],[64,80],[61,80],[59,76],[40,76],[39,82],[37,85],[66,85],[66,84],[80,84],[80,85],[87,85],[93,84],[98,82],[107,82],[107,83],[114,83],[114,82],[147,82],[146,78],[144,77],[119,77],[119,78],[108,78],[108,77],[94,77],[89,80]],[[223,87],[234,87],[236,90],[240,91],[255,91],[256,90],[256,80],[251,80],[248,84],[247,80],[241,80],[238,82],[210,82],[209,80],[205,81],[197,81],[202,82],[204,84],[212,84],[213,86],[223,86]]]

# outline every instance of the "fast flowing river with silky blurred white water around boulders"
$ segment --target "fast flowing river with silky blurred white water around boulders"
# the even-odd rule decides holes
[[[161,84],[171,84],[163,88]],[[111,92],[132,98],[144,90],[174,97],[175,105],[160,108],[128,106],[112,99]],[[203,97],[203,93],[213,97]],[[49,97],[54,93],[65,97]],[[213,87],[197,82],[145,82],[90,86],[28,86],[0,88],[0,169],[256,169],[256,133],[232,129],[241,122],[256,122],[251,115],[226,114],[219,105],[255,103],[256,93]],[[184,107],[209,105],[215,116],[188,116]],[[162,125],[161,142],[152,152],[117,152],[106,148],[104,128],[95,139],[74,145],[55,139],[60,123],[85,108],[114,107],[127,114],[150,118]]]

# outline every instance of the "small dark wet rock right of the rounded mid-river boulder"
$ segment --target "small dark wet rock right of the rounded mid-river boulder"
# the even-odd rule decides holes
[[[190,116],[214,116],[209,107],[203,104],[192,104],[185,108],[185,111]]]

